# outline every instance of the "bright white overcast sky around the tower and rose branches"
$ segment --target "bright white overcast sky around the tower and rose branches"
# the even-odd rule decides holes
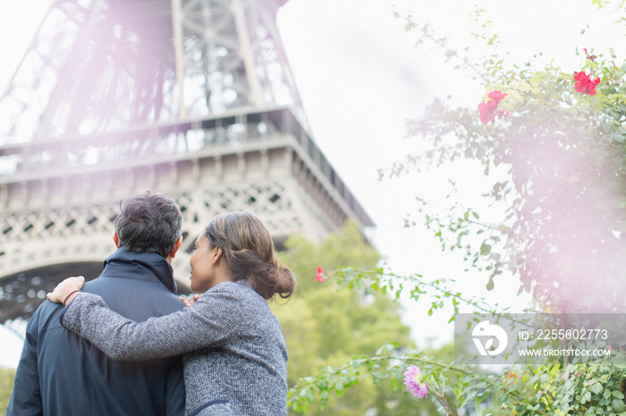
[[[544,62],[554,58],[564,71],[578,71],[575,47],[606,52],[626,49],[619,28],[591,0],[489,0],[478,2],[494,17],[502,50],[526,62],[542,52]],[[0,2],[0,88],[28,45],[32,32],[47,11],[49,0]],[[463,293],[481,294],[486,276],[463,273],[458,255],[443,254],[430,231],[403,229],[408,213],[417,215],[415,196],[436,198],[449,174],[457,176],[464,200],[475,201],[487,182],[471,167],[468,171],[427,172],[377,182],[377,170],[415,151],[419,144],[402,139],[407,119],[419,117],[435,96],[453,95],[453,102],[475,107],[486,89],[469,72],[444,65],[442,53],[429,44],[415,46],[417,34],[406,32],[393,19],[413,12],[415,21],[430,22],[454,45],[472,43],[469,0],[290,0],[278,14],[283,44],[318,146],[376,222],[372,238],[393,270],[419,272],[427,279],[462,281]],[[580,29],[590,23],[584,37]],[[0,89],[2,91],[2,89]],[[477,114],[478,116],[478,114]],[[477,188],[478,182],[478,188]],[[470,203],[472,204],[472,203]],[[496,281],[491,299],[511,304],[519,312],[527,298],[515,298],[519,282]],[[420,345],[426,337],[452,338],[444,328],[449,313],[425,320],[427,308],[407,305],[405,321]],[[444,329],[442,329],[444,328]],[[4,350],[4,351],[3,351]],[[21,341],[0,332],[0,365],[14,366]]]

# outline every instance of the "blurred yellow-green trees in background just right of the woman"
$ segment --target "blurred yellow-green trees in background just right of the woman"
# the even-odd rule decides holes
[[[280,257],[298,279],[296,295],[287,304],[273,306],[289,350],[290,387],[320,369],[339,369],[356,355],[375,354],[380,345],[389,342],[400,348],[414,346],[409,328],[402,324],[400,304],[373,290],[338,288],[332,280],[315,279],[317,267],[376,267],[380,254],[364,240],[354,223],[348,222],[319,244],[292,237]],[[406,414],[415,408],[410,396],[398,395],[397,383],[392,386],[383,380],[343,376],[329,386],[342,395],[341,399],[328,395],[326,389],[325,394],[317,396],[325,404],[323,410],[307,407],[306,400],[293,409],[306,414],[362,415],[367,409],[376,409],[377,414]],[[315,392],[305,389],[300,393],[312,399]],[[424,408],[434,409],[427,403]]]

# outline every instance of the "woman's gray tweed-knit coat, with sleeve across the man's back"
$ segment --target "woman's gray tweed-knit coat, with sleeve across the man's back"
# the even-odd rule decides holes
[[[193,306],[141,323],[112,312],[100,296],[82,293],[65,308],[61,322],[114,360],[189,353],[187,415],[287,414],[281,326],[245,280],[220,283]]]

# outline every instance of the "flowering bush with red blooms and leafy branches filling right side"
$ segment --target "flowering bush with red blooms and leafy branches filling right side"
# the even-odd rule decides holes
[[[623,2],[593,3],[614,7],[616,21],[623,24]],[[418,198],[424,221],[444,250],[463,250],[468,268],[486,275],[488,290],[499,279],[507,284],[505,277],[519,278],[520,292],[532,293],[540,312],[624,312],[626,62],[613,50],[591,48],[576,51],[575,68],[509,64],[505,54],[495,52],[472,60],[428,25],[411,16],[396,17],[421,42],[442,47],[446,61],[469,69],[485,86],[485,96],[471,108],[436,100],[424,116],[409,121],[407,137],[422,140],[427,150],[382,170],[381,177],[464,160],[479,163],[486,177],[496,178],[484,195],[489,209],[460,201],[442,211]],[[476,21],[484,23],[475,36],[486,46],[497,45],[497,34],[487,33],[484,9],[476,11]],[[396,298],[404,293],[429,303],[430,312],[449,308],[451,320],[460,304],[505,315],[453,290],[449,282],[418,274],[343,267],[334,277],[357,291]],[[623,355],[623,340],[612,339],[608,347]],[[419,365],[421,375],[405,382],[427,383],[441,414],[472,408],[478,414],[626,415],[622,362],[589,365],[562,356],[541,365],[486,371],[394,344],[300,379],[292,405],[312,400],[302,391],[328,395],[342,377],[395,379],[397,384],[409,364]]]

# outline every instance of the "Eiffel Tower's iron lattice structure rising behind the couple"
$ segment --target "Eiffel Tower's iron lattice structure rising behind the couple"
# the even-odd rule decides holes
[[[0,96],[0,323],[97,277],[120,200],[146,189],[183,212],[183,292],[219,212],[255,213],[279,247],[373,225],[311,138],[275,23],[285,1],[52,3]]]

